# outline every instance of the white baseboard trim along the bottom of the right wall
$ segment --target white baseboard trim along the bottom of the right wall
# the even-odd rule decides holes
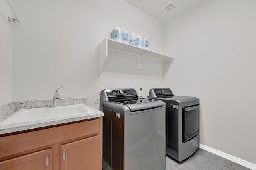
[[[232,155],[230,155],[230,154],[224,153],[224,152],[222,152],[222,151],[220,151],[220,150],[213,149],[213,148],[208,147],[208,146],[206,146],[206,145],[203,145],[203,144],[201,144],[201,143],[199,143],[199,148],[204,149],[204,150],[206,150],[206,151],[208,151],[208,152],[211,152],[211,153],[213,153],[213,154],[216,154],[216,155],[218,155],[218,156],[221,156],[222,158],[231,160],[232,162],[235,162],[235,163],[237,163],[237,164],[240,164],[240,165],[242,165],[242,166],[245,166],[246,168],[250,168],[251,170],[256,170],[256,164],[253,164],[253,163],[248,162],[248,161],[246,161],[246,160],[242,160],[242,159],[240,159],[240,158],[237,158],[237,157],[232,156]]]

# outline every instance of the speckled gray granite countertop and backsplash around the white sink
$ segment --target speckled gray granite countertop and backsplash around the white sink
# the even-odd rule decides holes
[[[93,111],[95,111],[95,113],[85,113],[85,114],[82,114],[82,115],[76,115],[76,116],[70,116],[70,117],[59,117],[59,118],[54,118],[54,119],[50,119],[50,120],[48,119],[48,120],[32,121],[32,122],[12,124],[12,125],[1,125],[0,126],[0,134],[2,135],[2,134],[6,134],[6,133],[24,131],[24,130],[28,130],[28,129],[35,129],[35,128],[39,128],[39,127],[47,127],[47,126],[51,126],[51,125],[58,125],[58,124],[62,124],[62,123],[70,123],[70,122],[74,122],[74,121],[80,121],[80,120],[86,120],[86,119],[92,119],[92,118],[104,116],[104,113],[102,111],[99,111],[98,109],[95,109],[94,107],[86,104],[87,103],[87,98],[86,98],[86,100],[85,100],[85,98],[82,98],[82,100],[83,100],[82,102],[81,101],[78,102],[77,99],[78,98],[75,98],[75,100],[76,100],[75,102],[74,102],[74,98],[72,98],[72,102],[70,102],[70,99],[69,99],[69,102],[62,103],[62,106],[72,105],[72,104],[84,104],[85,106],[87,106],[90,109],[92,109]],[[81,98],[79,98],[79,100],[81,100]],[[84,100],[86,102],[84,102]],[[30,106],[29,108],[31,108],[31,102],[26,101],[26,103],[27,103],[28,106]],[[50,106],[47,106],[47,105],[43,105],[43,106],[50,107]],[[32,107],[37,108],[36,106],[32,106]],[[40,105],[40,107],[42,107],[42,105]],[[25,108],[27,108],[27,107],[25,107]],[[24,109],[24,108],[22,108],[22,109]],[[4,121],[5,119],[7,119],[8,117],[10,117],[12,114],[14,114],[17,109],[14,109],[14,110],[15,111],[12,110],[12,113],[10,113],[9,115],[5,115],[5,116],[1,115],[1,122]],[[2,111],[2,108],[1,108],[1,111]],[[2,117],[4,117],[3,120],[2,120]]]

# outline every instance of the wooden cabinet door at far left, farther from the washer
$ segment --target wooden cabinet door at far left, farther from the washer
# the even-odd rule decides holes
[[[51,170],[52,149],[41,150],[0,163],[1,170]]]

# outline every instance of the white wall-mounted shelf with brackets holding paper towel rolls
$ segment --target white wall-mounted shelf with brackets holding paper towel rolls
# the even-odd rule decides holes
[[[168,67],[174,60],[173,57],[167,55],[106,38],[99,44],[99,74],[102,73],[106,57],[108,57],[108,50],[138,56],[138,69],[141,69],[141,62],[144,58],[162,61],[164,73],[168,70]]]

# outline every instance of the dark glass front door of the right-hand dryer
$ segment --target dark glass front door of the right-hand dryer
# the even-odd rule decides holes
[[[182,107],[182,143],[199,134],[199,104]]]

